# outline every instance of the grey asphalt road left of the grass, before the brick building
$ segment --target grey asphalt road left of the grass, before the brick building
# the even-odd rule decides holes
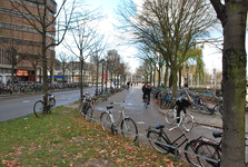
[[[95,88],[87,88],[85,91],[89,91],[93,94]],[[56,96],[56,105],[62,106],[66,104],[70,104],[77,101],[80,97],[79,90],[69,90],[69,91],[60,91],[53,92]],[[33,105],[36,101],[41,100],[41,95],[34,96],[19,96],[16,98],[6,98],[0,99],[0,121],[6,121],[9,119],[19,118],[22,116],[27,116],[29,114],[33,114]]]

